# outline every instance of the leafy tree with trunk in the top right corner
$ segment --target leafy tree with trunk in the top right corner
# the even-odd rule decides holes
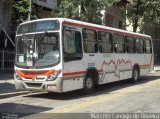
[[[160,0],[133,0],[127,5],[127,18],[133,32],[145,22],[160,23]]]

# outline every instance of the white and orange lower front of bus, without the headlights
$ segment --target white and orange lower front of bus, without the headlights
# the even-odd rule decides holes
[[[14,75],[14,82],[16,89],[30,90],[30,91],[47,91],[47,92],[62,92],[62,63],[59,63],[57,66],[52,68],[42,68],[42,69],[24,69],[15,67],[15,71],[20,70],[26,76],[32,76],[36,73],[35,76],[30,78],[21,77],[21,79],[17,79],[16,74]],[[47,80],[47,76],[44,76],[40,72],[49,72],[51,69],[60,70],[59,76],[55,80]],[[39,74],[37,74],[39,72]]]

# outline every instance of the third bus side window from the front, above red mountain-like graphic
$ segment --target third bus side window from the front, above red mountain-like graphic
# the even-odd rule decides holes
[[[112,52],[112,39],[111,34],[103,31],[98,32],[98,45],[101,53]]]

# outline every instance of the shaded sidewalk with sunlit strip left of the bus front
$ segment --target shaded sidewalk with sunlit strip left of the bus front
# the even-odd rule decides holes
[[[29,92],[15,89],[13,73],[0,74],[0,99],[26,93]]]

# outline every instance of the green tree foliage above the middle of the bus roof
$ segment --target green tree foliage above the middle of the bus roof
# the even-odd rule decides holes
[[[61,0],[60,12],[56,15],[101,24],[101,11],[116,1],[119,0]]]

